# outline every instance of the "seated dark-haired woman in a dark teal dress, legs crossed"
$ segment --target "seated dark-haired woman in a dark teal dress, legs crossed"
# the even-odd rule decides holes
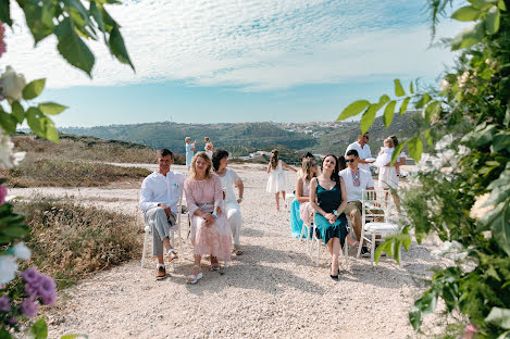
[[[315,234],[332,254],[329,276],[338,280],[338,258],[347,236],[346,186],[338,176],[338,160],[328,154],[322,161],[322,173],[310,181],[310,204],[315,210]]]

